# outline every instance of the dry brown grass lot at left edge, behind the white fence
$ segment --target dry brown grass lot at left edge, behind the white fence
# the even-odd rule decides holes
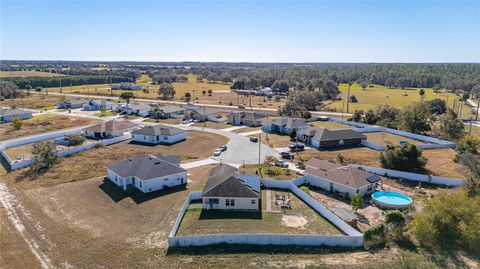
[[[14,130],[12,123],[5,123],[0,128],[0,139],[8,140],[22,136],[34,135],[66,128],[79,127],[99,123],[99,120],[89,118],[76,118],[53,114],[35,115],[33,118],[23,121],[20,130]]]

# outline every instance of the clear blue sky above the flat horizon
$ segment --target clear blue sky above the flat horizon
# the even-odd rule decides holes
[[[480,0],[0,0],[0,60],[480,62]]]

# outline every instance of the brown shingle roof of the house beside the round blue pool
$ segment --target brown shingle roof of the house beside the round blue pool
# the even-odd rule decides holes
[[[312,158],[306,163],[306,166],[305,174],[356,189],[380,180],[378,175],[317,158]]]

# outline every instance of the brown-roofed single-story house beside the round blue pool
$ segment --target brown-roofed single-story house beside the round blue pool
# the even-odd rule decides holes
[[[378,175],[350,166],[342,166],[326,160],[312,158],[306,163],[304,176],[313,186],[327,191],[365,196],[375,191]]]

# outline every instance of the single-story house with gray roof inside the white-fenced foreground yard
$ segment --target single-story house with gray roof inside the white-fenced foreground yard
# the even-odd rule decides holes
[[[204,209],[254,210],[261,207],[260,177],[240,174],[228,164],[213,168],[202,192]]]

